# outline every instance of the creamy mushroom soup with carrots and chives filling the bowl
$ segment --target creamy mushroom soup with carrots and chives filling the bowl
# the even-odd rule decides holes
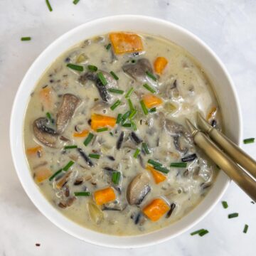
[[[60,55],[28,102],[24,144],[47,200],[101,233],[140,235],[188,214],[218,169],[186,118],[221,129],[203,68],[163,38],[114,32]]]

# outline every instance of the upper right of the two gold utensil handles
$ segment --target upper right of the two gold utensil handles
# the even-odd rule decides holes
[[[245,168],[245,171],[256,179],[256,161],[254,159],[248,156],[245,151],[242,151],[240,147],[231,142],[224,134],[211,127],[201,114],[198,114],[198,127],[200,127],[203,132],[206,132],[210,139],[213,139],[213,141],[234,159],[236,163],[240,164],[240,166]]]

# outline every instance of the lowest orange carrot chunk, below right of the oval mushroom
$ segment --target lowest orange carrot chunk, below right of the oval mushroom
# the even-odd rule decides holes
[[[159,220],[169,210],[168,204],[161,198],[156,198],[142,210],[152,221]]]

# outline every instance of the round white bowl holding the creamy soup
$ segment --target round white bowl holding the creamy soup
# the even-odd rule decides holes
[[[213,53],[213,50],[210,50],[210,48],[199,38],[194,36],[193,33],[190,33],[173,23],[147,16],[123,15],[100,18],[82,24],[68,33],[65,33],[63,36],[60,36],[60,38],[51,43],[50,46],[39,55],[23,78],[14,100],[10,130],[11,154],[18,178],[28,194],[28,197],[31,198],[31,201],[33,201],[41,213],[70,235],[95,245],[104,245],[107,247],[121,248],[155,245],[156,243],[164,242],[170,238],[176,237],[202,220],[210,210],[213,209],[215,204],[218,203],[221,196],[223,196],[226,188],[228,188],[230,179],[220,171],[213,188],[210,189],[206,198],[194,210],[176,223],[161,230],[157,230],[154,233],[119,237],[97,233],[87,228],[83,228],[68,218],[65,218],[64,215],[56,210],[46,198],[44,198],[43,194],[38,189],[38,186],[33,181],[26,161],[23,146],[23,117],[26,112],[30,93],[38,82],[38,79],[46,68],[53,63],[55,58],[71,46],[75,45],[75,43],[110,31],[149,33],[167,38],[188,50],[199,63],[201,63],[206,70],[208,77],[213,82],[223,113],[225,133],[233,140],[233,142],[237,144],[240,143],[241,117],[238,97],[233,82],[230,79],[230,75],[228,75],[223,63],[221,63],[219,58]]]

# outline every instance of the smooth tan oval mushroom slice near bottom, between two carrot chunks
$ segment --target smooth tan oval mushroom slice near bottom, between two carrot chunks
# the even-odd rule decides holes
[[[138,174],[127,187],[127,201],[130,205],[140,205],[145,196],[151,191],[149,175]]]

